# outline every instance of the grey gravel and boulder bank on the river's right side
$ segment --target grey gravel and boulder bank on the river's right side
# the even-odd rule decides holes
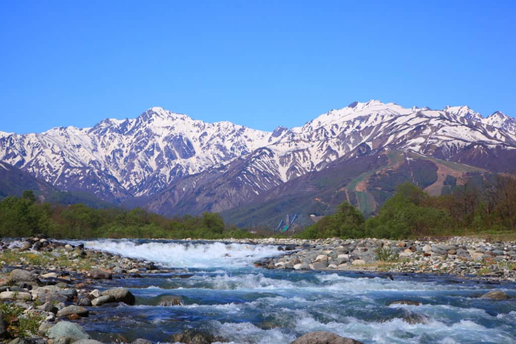
[[[239,240],[236,240],[239,241]],[[256,262],[267,269],[366,270],[475,276],[516,281],[516,243],[465,237],[442,240],[256,239],[287,250]]]

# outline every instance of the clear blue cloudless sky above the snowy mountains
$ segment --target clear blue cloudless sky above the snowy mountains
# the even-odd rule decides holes
[[[272,130],[352,101],[516,116],[516,2],[2,1],[0,130],[163,106]]]

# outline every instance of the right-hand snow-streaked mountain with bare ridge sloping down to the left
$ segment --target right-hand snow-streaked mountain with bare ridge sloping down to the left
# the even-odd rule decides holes
[[[467,107],[407,109],[355,102],[285,130],[252,153],[177,179],[140,205],[167,215],[224,211],[260,200],[264,192],[297,177],[335,168],[337,159],[384,151],[415,152],[490,171],[514,170],[516,133],[504,130],[506,122],[492,119]]]

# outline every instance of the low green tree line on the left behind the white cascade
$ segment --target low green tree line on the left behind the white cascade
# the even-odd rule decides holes
[[[224,223],[219,214],[172,219],[141,208],[94,209],[83,204],[38,202],[33,191],[0,202],[0,235],[27,237],[45,234],[53,238],[248,238],[253,234]]]

